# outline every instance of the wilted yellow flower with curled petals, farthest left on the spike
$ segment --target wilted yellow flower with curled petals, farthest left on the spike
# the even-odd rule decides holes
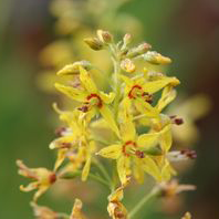
[[[33,201],[36,201],[38,198],[44,194],[56,180],[55,173],[50,171],[46,168],[29,168],[21,160],[17,160],[17,165],[19,166],[19,174],[21,176],[35,180],[29,184],[27,187],[20,186],[22,191],[38,189],[33,196]]]

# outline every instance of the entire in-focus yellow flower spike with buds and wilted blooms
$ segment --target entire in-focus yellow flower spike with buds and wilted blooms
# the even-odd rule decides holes
[[[58,104],[53,105],[63,123],[50,144],[50,149],[58,152],[54,168],[52,171],[30,169],[18,160],[19,173],[35,180],[21,187],[24,191],[38,189],[32,202],[35,215],[56,217],[56,212],[39,207],[36,201],[61,178],[81,176],[83,181],[91,178],[107,186],[112,191],[107,210],[113,219],[133,218],[135,211],[128,213],[121,202],[124,189],[131,180],[143,182],[145,175],[159,185],[153,189],[156,196],[194,189],[167,182],[176,175],[173,163],[196,157],[194,150],[173,149],[171,128],[182,125],[184,121],[164,113],[176,97],[179,80],[148,67],[169,64],[171,60],[153,51],[146,42],[133,46],[131,34],[115,42],[108,31],[98,30],[96,36],[86,38],[84,42],[95,51],[108,51],[113,69],[109,74],[101,70],[107,84],[104,88],[94,77],[100,69],[90,61],[67,64],[58,72],[67,80],[55,83],[55,88],[71,98],[74,107],[62,111]],[[111,167],[113,174],[100,157],[115,161]],[[96,166],[100,173],[92,173],[91,166]],[[84,218],[81,207],[81,201],[76,200],[70,218]]]

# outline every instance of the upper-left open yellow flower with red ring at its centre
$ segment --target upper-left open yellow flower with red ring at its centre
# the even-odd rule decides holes
[[[108,126],[117,134],[117,136],[119,136],[113,113],[108,107],[108,104],[113,102],[115,94],[100,92],[88,72],[83,67],[80,67],[80,80],[83,85],[83,88],[81,90],[59,83],[55,84],[55,87],[69,97],[83,103],[79,109],[84,113],[90,112],[92,115],[91,117],[96,113],[101,113],[104,119],[108,123]]]

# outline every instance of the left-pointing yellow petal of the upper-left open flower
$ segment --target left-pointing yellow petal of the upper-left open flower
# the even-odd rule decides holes
[[[55,88],[69,96],[70,98],[79,102],[84,102],[87,96],[87,93],[84,91],[80,91],[77,88],[73,88],[72,86],[65,86],[59,83],[55,83]]]

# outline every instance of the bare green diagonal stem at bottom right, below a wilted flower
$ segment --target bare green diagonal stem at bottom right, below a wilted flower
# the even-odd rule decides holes
[[[143,197],[143,199],[131,210],[128,213],[129,219],[136,218],[135,215],[139,211],[139,209],[149,200],[157,197],[160,194],[160,189],[155,187],[149,194]]]

